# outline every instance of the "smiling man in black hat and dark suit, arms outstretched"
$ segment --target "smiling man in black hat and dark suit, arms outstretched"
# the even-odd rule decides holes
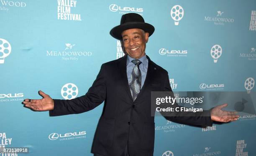
[[[144,22],[141,15],[128,13],[110,34],[122,40],[124,57],[104,63],[89,91],[72,100],[56,100],[39,91],[40,100],[26,99],[26,107],[35,111],[49,111],[50,116],[61,116],[90,111],[105,101],[102,116],[95,132],[92,153],[95,156],[153,156],[154,116],[151,116],[151,91],[169,91],[166,70],[146,55],[146,43],[154,27]],[[236,112],[222,111],[217,106],[211,111],[165,116],[179,123],[212,126],[212,121],[229,122],[239,117]],[[179,107],[177,103],[173,107]],[[221,116],[213,116],[218,113]]]

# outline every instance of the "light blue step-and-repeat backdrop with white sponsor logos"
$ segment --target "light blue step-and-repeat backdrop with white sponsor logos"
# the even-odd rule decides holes
[[[39,90],[55,99],[87,93],[102,63],[123,56],[109,32],[125,13],[154,25],[146,54],[168,71],[173,91],[255,91],[255,0],[0,0],[0,147],[93,155],[103,104],[49,117],[21,102],[41,98]],[[256,156],[255,115],[205,128],[155,123],[154,156]]]

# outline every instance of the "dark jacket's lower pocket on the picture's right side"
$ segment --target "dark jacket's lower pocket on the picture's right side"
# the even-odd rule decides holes
[[[154,141],[155,141],[155,123],[144,123],[143,138],[141,140],[142,151],[153,152]]]

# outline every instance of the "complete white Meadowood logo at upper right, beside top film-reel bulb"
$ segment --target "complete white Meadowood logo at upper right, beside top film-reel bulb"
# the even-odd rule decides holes
[[[215,17],[205,16],[205,21],[213,22],[215,25],[225,25],[225,23],[233,23],[234,19],[229,17],[223,17],[224,12],[217,11]]]

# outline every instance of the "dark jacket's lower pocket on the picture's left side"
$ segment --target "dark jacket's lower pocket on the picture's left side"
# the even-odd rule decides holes
[[[100,118],[96,138],[100,145],[110,148],[113,144],[115,119]]]

